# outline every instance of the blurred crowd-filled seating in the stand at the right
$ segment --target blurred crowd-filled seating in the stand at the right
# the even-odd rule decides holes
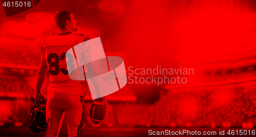
[[[239,76],[226,80],[248,78],[255,76],[255,72],[238,73]],[[220,81],[220,78],[212,81]],[[243,123],[250,122],[255,125],[256,88],[252,85],[255,82],[234,83],[228,88],[217,85],[219,88],[190,88],[190,91],[170,89],[133,124],[145,127],[212,127],[212,124],[214,127],[242,127]]]

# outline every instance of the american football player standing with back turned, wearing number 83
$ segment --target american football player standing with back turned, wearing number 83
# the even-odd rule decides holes
[[[36,96],[35,102],[45,101],[45,97],[40,93],[46,72],[49,71],[49,85],[47,93],[46,117],[48,127],[45,136],[58,136],[64,115],[66,116],[68,136],[82,136],[83,126],[86,117],[86,106],[84,104],[84,92],[81,80],[70,79],[68,69],[73,66],[75,59],[85,61],[90,60],[90,45],[82,45],[82,52],[76,57],[66,55],[67,51],[75,45],[90,40],[84,34],[74,34],[77,30],[77,21],[71,11],[62,10],[55,14],[56,27],[60,31],[58,35],[47,36],[39,43],[39,50],[42,53],[41,63],[36,76]],[[67,58],[68,57],[68,58]],[[69,64],[69,66],[67,66]],[[96,69],[87,65],[86,69],[90,73],[97,75]],[[97,96],[102,97],[100,79],[93,81]],[[101,98],[102,105],[107,108],[104,97]]]

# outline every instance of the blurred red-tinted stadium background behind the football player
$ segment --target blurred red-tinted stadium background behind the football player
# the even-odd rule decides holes
[[[186,84],[127,84],[106,97],[109,108],[97,126],[90,120],[92,98],[85,85],[85,135],[256,127],[256,2],[41,1],[11,17],[0,8],[0,136],[44,136],[32,133],[26,120],[34,103],[38,43],[58,33],[53,16],[63,9],[73,12],[79,33],[100,36],[106,56],[122,57],[126,69],[195,70],[185,76]]]

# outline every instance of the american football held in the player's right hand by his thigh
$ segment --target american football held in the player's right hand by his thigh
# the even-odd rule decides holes
[[[99,124],[106,115],[106,108],[105,105],[100,105],[102,102],[101,99],[96,99],[90,108],[90,117],[93,124]]]

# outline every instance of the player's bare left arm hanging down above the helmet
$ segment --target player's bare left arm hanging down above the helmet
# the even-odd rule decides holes
[[[37,101],[46,101],[45,97],[41,94],[40,90],[42,87],[42,84],[45,81],[46,72],[48,70],[47,67],[47,61],[44,57],[44,54],[41,55],[41,63],[36,75],[36,96],[35,96],[35,102]]]

